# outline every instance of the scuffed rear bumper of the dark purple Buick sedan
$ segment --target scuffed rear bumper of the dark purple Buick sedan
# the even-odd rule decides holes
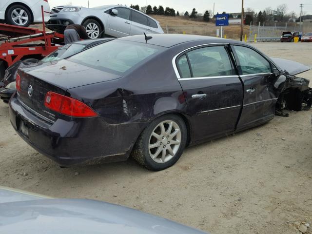
[[[126,160],[143,128],[142,123],[106,124],[100,117],[48,122],[25,109],[16,96],[10,99],[9,115],[23,140],[63,166]]]

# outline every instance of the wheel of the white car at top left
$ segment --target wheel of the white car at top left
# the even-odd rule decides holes
[[[7,10],[5,21],[8,24],[28,27],[32,21],[30,10],[23,5],[14,4]]]

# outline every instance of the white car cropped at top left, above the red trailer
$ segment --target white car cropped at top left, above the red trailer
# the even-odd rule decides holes
[[[0,0],[0,20],[23,27],[42,22],[41,5],[47,22],[50,19],[48,0]]]

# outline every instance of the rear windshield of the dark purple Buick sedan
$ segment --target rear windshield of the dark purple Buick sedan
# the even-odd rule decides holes
[[[113,40],[82,51],[68,60],[101,71],[122,75],[163,50],[164,48],[160,46]]]

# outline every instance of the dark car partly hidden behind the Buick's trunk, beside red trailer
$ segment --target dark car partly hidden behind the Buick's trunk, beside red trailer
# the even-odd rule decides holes
[[[108,40],[111,40],[111,38],[80,40],[60,47],[58,50],[52,52],[50,55],[46,56],[40,61],[37,59],[24,59],[17,61],[16,63],[14,63],[12,66],[8,67],[5,70],[5,75],[2,80],[2,83],[0,82],[0,99],[8,103],[11,96],[15,93],[16,91],[15,80],[19,68],[30,64],[32,64],[31,66],[36,66],[38,62],[39,63],[52,62],[59,59],[64,59],[82,50],[86,50],[94,45],[97,45],[99,43]]]

